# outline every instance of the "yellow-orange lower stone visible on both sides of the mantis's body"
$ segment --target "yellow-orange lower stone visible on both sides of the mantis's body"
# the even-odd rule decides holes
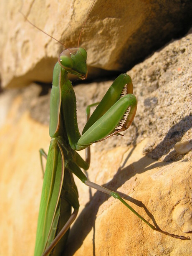
[[[32,89],[33,90],[32,90]],[[19,91],[0,129],[0,255],[33,255],[43,183],[39,152],[48,151],[48,126],[29,116],[27,96]],[[36,92],[35,92],[36,91]],[[30,99],[30,101],[29,101]],[[34,104],[33,103],[33,104]],[[30,103],[31,104],[31,103]],[[32,104],[32,106],[33,106]],[[191,162],[162,162],[143,155],[149,143],[102,152],[92,147],[89,179],[118,191],[130,205],[164,231],[191,236]],[[104,144],[104,143],[103,143]],[[97,148],[98,147],[98,148]],[[83,152],[82,157],[83,156]],[[77,178],[80,212],[71,228],[65,255],[190,255],[191,241],[152,231],[114,198],[86,187]],[[91,196],[91,198],[90,198]]]

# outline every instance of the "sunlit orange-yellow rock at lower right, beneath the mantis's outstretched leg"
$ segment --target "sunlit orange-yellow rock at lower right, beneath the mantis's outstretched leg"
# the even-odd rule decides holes
[[[167,165],[152,160],[142,154],[146,143],[145,139],[135,148],[94,154],[89,178],[117,190],[139,214],[163,231],[191,237],[191,162]],[[108,195],[91,190],[89,200],[88,189],[83,184],[78,184],[78,191],[81,213],[71,228],[63,255],[191,255],[191,241],[152,231]]]

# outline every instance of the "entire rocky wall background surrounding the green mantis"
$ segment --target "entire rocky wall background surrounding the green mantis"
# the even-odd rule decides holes
[[[19,10],[76,47],[92,3],[0,3],[0,255],[33,255],[43,184],[38,150],[48,151],[53,67],[63,51]],[[82,131],[86,106],[102,99],[118,74],[131,76],[134,122],[124,137],[92,145],[88,177],[118,191],[157,228],[186,237],[192,232],[191,13],[190,0],[96,0],[80,41],[88,81],[71,77]],[[185,153],[174,149],[177,142],[185,142]],[[192,240],[152,231],[114,198],[76,184],[81,207],[65,255],[192,254]]]

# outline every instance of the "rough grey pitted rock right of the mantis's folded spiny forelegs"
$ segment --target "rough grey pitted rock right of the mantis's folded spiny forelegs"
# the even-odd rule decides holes
[[[192,138],[191,32],[128,71],[138,101],[136,143],[150,137],[144,152],[154,159],[192,160],[192,151],[182,156],[174,150],[177,142]]]

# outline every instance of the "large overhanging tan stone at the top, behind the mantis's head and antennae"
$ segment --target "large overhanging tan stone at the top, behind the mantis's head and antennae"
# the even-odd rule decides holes
[[[8,0],[0,3],[0,70],[3,86],[51,82],[63,46],[27,23],[19,10],[68,47],[78,36],[92,0]],[[81,38],[89,74],[127,71],[153,49],[190,27],[190,0],[96,0]]]

